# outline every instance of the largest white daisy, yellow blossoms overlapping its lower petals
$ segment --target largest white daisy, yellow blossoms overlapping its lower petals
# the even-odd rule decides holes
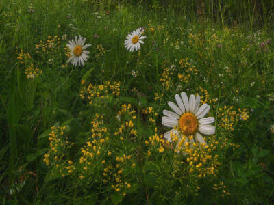
[[[173,128],[164,134],[164,138],[171,142],[173,137],[177,136],[176,148],[184,146],[185,143],[195,142],[199,146],[201,144],[206,146],[207,143],[201,134],[213,135],[215,133],[215,127],[209,125],[215,121],[214,117],[204,118],[210,111],[210,106],[203,104],[199,107],[200,96],[195,98],[194,94],[191,94],[188,100],[185,92],[182,92],[181,96],[176,94],[175,100],[177,105],[174,102],[168,103],[174,112],[163,111],[165,116],[162,117],[162,125]],[[179,153],[179,150],[177,152]]]

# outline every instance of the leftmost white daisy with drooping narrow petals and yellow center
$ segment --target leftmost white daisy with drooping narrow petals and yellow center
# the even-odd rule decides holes
[[[77,66],[77,64],[79,64],[79,66],[81,66],[81,64],[84,66],[84,61],[87,61],[89,58],[88,53],[90,53],[90,51],[85,51],[84,49],[91,46],[91,44],[84,45],[85,41],[86,38],[79,36],[77,39],[77,36],[75,36],[75,41],[71,40],[69,41],[69,44],[66,44],[71,50],[69,62],[72,61],[73,66]]]

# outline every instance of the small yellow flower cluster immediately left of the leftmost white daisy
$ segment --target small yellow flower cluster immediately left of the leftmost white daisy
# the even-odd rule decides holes
[[[47,40],[45,42],[40,40],[39,44],[35,45],[35,53],[40,53],[40,51],[43,53],[54,51],[58,44],[60,44],[60,38],[57,35],[47,36]]]

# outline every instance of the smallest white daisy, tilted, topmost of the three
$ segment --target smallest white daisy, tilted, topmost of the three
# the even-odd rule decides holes
[[[132,51],[138,51],[141,49],[140,43],[143,44],[144,42],[142,39],[146,38],[147,36],[142,36],[142,33],[144,33],[144,29],[139,28],[136,31],[132,31],[132,33],[129,33],[127,35],[125,40],[125,49],[130,52]]]

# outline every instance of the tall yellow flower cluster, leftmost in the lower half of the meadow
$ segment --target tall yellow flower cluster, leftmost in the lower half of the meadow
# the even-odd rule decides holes
[[[75,170],[75,163],[69,160],[67,149],[74,146],[64,133],[66,126],[53,126],[49,134],[49,150],[44,154],[44,162],[48,167],[53,167],[53,172],[58,172],[61,176],[71,174]]]

